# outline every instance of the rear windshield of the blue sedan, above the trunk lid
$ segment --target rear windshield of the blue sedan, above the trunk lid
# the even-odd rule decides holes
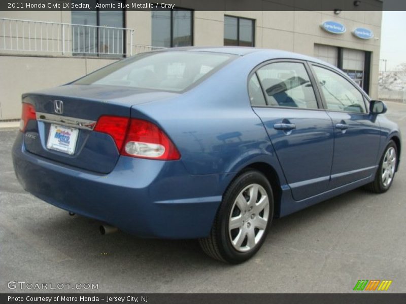
[[[195,52],[151,52],[118,61],[74,84],[109,85],[179,92],[208,77],[236,55]]]

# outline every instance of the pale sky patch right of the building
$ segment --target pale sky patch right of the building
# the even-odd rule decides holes
[[[388,71],[393,70],[400,63],[406,63],[405,29],[406,12],[382,12],[380,59],[387,60],[386,70]],[[384,69],[385,66],[381,60],[380,70]]]

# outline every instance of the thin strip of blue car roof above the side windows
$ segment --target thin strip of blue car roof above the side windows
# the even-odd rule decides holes
[[[199,51],[199,52],[215,52],[224,54],[233,54],[238,56],[244,56],[251,53],[258,53],[261,55],[266,55],[269,59],[298,59],[312,61],[315,63],[320,63],[323,65],[330,66],[336,69],[335,66],[317,59],[315,57],[302,55],[299,53],[293,53],[289,51],[276,50],[276,49],[260,49],[252,47],[180,47],[180,48],[168,48],[159,51]]]

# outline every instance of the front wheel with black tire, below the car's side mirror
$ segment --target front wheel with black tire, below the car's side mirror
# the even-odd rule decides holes
[[[374,193],[387,192],[395,178],[396,166],[397,147],[393,140],[391,140],[381,157],[374,181],[366,184],[364,188]]]

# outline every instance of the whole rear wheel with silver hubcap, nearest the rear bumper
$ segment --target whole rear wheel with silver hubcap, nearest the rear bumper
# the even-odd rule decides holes
[[[210,236],[199,239],[199,244],[215,259],[244,262],[262,246],[273,215],[269,181],[259,171],[246,171],[228,186]]]

